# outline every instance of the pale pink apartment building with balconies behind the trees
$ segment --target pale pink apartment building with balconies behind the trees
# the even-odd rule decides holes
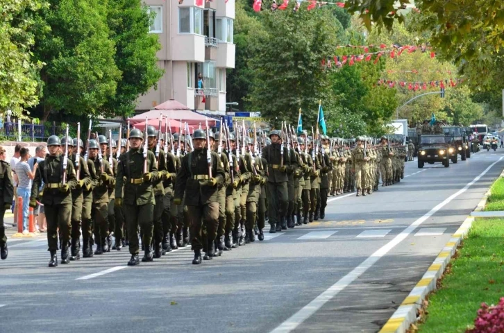
[[[188,108],[224,114],[226,69],[235,67],[235,0],[145,0],[144,4],[156,14],[150,33],[159,37],[158,65],[165,75],[158,89],[139,97],[137,110],[175,99]]]

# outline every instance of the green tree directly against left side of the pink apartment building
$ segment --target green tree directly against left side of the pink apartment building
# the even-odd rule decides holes
[[[107,22],[115,42],[115,65],[122,75],[114,95],[99,111],[106,117],[129,116],[135,112],[138,96],[156,86],[163,71],[156,52],[161,49],[158,35],[149,33],[151,19],[141,0],[109,0]]]

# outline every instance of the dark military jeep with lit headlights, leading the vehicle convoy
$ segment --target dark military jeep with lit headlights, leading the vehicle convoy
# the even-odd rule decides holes
[[[421,169],[425,163],[442,163],[445,168],[450,167],[450,157],[457,157],[455,148],[446,142],[446,136],[420,135],[418,148],[418,167]]]

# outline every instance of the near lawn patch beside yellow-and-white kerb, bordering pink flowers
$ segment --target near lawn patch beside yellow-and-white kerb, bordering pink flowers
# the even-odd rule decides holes
[[[419,332],[465,332],[482,302],[497,304],[504,296],[503,260],[504,219],[476,219],[441,287],[430,296]]]

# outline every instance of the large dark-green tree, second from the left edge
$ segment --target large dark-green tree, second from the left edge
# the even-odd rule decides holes
[[[114,96],[121,78],[106,22],[107,1],[48,2],[37,15],[33,51],[36,60],[47,64],[40,72],[42,120],[61,111],[97,114]]]

